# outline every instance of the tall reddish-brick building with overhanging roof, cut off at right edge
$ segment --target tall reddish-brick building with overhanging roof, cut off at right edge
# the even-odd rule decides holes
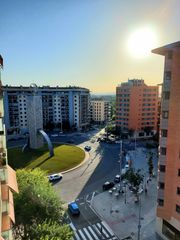
[[[165,56],[162,86],[157,232],[180,239],[180,42],[152,51]]]

